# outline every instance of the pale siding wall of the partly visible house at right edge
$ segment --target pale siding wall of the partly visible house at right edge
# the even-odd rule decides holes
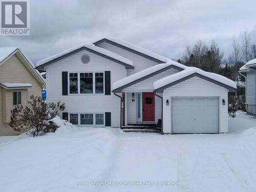
[[[246,73],[246,104],[248,104],[247,112],[256,114],[256,73]]]

